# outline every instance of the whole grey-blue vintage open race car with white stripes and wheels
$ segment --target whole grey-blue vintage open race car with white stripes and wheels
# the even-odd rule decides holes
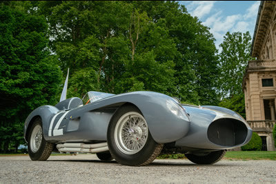
[[[226,149],[248,143],[251,134],[231,110],[184,105],[157,92],[88,92],[83,99],[35,109],[24,126],[32,160],[46,160],[54,150],[96,153],[101,160],[135,166],[179,153],[212,164]]]

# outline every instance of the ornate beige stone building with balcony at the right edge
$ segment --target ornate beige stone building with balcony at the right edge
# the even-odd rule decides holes
[[[273,126],[276,106],[276,1],[259,6],[251,55],[243,90],[246,120],[262,138],[262,150],[274,151]]]

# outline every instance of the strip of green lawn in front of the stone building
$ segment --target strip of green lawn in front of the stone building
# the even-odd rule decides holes
[[[224,159],[276,161],[276,152],[226,152]]]

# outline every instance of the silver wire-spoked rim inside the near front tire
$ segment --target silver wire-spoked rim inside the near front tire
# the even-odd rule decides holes
[[[128,112],[121,116],[115,126],[115,143],[124,154],[136,154],[148,139],[148,124],[144,116]]]

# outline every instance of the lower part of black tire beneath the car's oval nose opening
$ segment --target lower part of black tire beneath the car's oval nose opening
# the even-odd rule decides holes
[[[185,156],[193,163],[210,165],[220,161],[225,154],[226,150],[219,150],[216,152],[209,152],[204,154],[185,154]]]

